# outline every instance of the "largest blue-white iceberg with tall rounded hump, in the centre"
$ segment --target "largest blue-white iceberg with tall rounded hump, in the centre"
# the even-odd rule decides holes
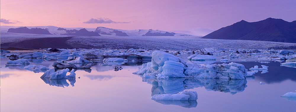
[[[183,66],[182,66],[183,65]],[[195,78],[219,78],[219,79],[245,79],[247,69],[237,63],[209,64],[197,66],[186,64],[182,59],[172,54],[154,51],[152,61],[143,64],[142,68],[134,74],[145,76],[168,76],[168,77],[195,77]],[[160,75],[161,74],[161,75]]]

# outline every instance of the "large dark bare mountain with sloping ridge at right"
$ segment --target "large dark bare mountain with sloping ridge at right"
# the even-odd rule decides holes
[[[220,28],[202,38],[296,43],[296,21],[287,22],[274,18],[267,18],[258,22],[242,20]]]

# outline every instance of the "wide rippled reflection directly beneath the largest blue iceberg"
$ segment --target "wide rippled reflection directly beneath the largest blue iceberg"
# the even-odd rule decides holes
[[[143,81],[152,85],[151,96],[176,94],[194,87],[205,87],[206,90],[229,92],[234,95],[237,92],[243,92],[247,87],[246,79],[169,78],[158,80],[143,78]]]

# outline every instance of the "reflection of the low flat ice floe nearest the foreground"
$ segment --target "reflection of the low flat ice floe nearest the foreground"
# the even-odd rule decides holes
[[[196,100],[154,100],[158,103],[164,104],[164,105],[179,105],[181,107],[185,108],[192,108],[197,106]]]

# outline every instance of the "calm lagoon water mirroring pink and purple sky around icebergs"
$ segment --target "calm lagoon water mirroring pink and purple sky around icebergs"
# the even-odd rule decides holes
[[[91,69],[76,71],[76,80],[49,80],[19,67],[5,67],[1,58],[1,112],[6,111],[296,111],[296,99],[280,97],[296,90],[296,68],[280,66],[280,62],[255,62],[234,59],[226,63],[244,64],[246,69],[266,65],[268,72],[258,71],[246,80],[144,79],[132,74],[141,69],[141,62],[112,66],[93,63]],[[222,64],[190,62],[199,64]],[[31,60],[32,64],[51,65],[57,60]],[[147,63],[147,62],[142,62]],[[69,73],[68,73],[69,74]],[[80,79],[78,78],[80,77]],[[259,82],[266,83],[263,85]],[[197,91],[196,101],[155,101],[155,94],[176,94],[183,90]]]

